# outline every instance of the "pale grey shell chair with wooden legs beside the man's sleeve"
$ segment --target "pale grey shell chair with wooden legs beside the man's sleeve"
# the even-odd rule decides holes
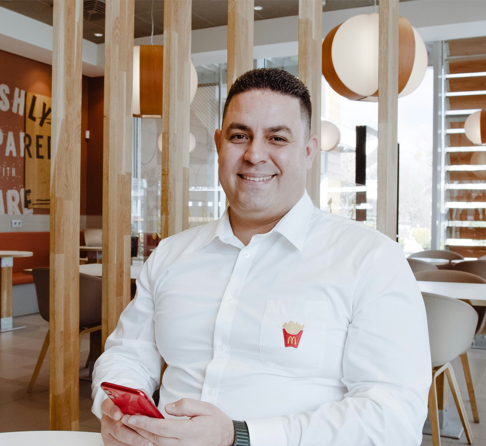
[[[433,446],[440,446],[436,379],[437,376],[445,372],[468,444],[472,445],[474,440],[471,427],[451,361],[457,356],[462,357],[469,350],[474,338],[474,327],[478,315],[474,308],[461,300],[431,293],[422,293],[422,296],[427,313],[432,358],[432,384],[429,390],[428,404],[432,427],[432,444]]]

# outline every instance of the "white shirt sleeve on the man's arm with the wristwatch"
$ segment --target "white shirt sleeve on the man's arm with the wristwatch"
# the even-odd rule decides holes
[[[246,420],[250,443],[420,445],[431,381],[422,296],[399,245],[383,243],[357,275],[343,355],[343,400],[315,411]]]

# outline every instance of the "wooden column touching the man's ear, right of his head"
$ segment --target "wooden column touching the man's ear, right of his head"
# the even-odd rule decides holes
[[[311,93],[311,135],[321,140],[322,2],[299,0],[299,79]],[[320,144],[319,144],[320,147]],[[307,172],[306,189],[312,203],[320,207],[321,151]]]

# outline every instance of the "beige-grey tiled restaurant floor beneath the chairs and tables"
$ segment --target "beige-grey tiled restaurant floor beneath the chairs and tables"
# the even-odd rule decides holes
[[[15,318],[16,324],[26,325],[22,330],[0,334],[0,432],[14,430],[49,429],[49,354],[37,378],[34,392],[27,393],[32,372],[37,361],[49,324],[39,315]],[[81,340],[80,364],[86,362],[89,338]],[[476,391],[480,424],[472,423],[469,397],[460,360],[452,366],[456,373],[462,397],[469,414],[469,421],[476,446],[486,446],[486,350],[470,350],[469,364]],[[81,371],[86,374],[86,369]],[[99,432],[100,423],[91,413],[91,384],[79,382],[80,430]],[[458,417],[452,397],[449,398],[450,416]],[[460,440],[442,438],[442,446],[467,445],[466,437]],[[422,446],[431,446],[432,437],[424,435]]]

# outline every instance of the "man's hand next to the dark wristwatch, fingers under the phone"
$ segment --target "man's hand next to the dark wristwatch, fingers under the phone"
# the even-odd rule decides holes
[[[167,404],[165,411],[190,419],[161,420],[144,415],[123,415],[121,422],[156,446],[230,446],[234,443],[233,422],[213,404],[183,398]]]

